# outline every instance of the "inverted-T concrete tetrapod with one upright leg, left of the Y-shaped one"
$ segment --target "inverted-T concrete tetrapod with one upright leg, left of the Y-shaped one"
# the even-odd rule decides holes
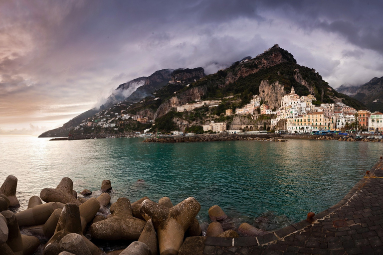
[[[93,223],[90,234],[94,239],[138,240],[146,222],[132,216],[132,207],[127,198],[119,198],[113,217]]]

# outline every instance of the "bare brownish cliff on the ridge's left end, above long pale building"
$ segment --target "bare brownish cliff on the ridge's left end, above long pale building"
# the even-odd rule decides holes
[[[173,107],[185,105],[188,102],[200,100],[201,96],[206,92],[205,87],[193,87],[184,91],[177,96],[171,97],[168,101],[162,103],[157,109],[154,119],[160,118],[170,112]]]

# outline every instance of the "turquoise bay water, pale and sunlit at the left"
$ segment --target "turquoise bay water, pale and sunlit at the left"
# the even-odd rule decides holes
[[[109,179],[112,202],[122,196],[132,202],[168,196],[177,204],[193,196],[201,204],[201,223],[208,221],[208,208],[219,205],[235,222],[267,218],[263,228],[273,230],[338,203],[383,148],[383,143],[336,140],[142,141],[0,137],[0,182],[9,174],[18,178],[21,209],[30,196],[56,187],[63,177],[73,180],[77,192],[97,191]]]

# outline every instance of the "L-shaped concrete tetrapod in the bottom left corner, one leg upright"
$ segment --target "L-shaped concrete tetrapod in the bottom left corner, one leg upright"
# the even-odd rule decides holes
[[[16,255],[31,255],[40,245],[38,238],[32,236],[24,236],[20,234],[16,216],[11,211],[1,212],[6,219],[8,227],[8,239],[6,244]]]

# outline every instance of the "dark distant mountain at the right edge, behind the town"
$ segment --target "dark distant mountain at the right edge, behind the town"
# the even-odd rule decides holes
[[[351,97],[365,104],[372,112],[383,112],[383,77],[374,77],[359,86],[341,86],[337,91],[350,92]]]

